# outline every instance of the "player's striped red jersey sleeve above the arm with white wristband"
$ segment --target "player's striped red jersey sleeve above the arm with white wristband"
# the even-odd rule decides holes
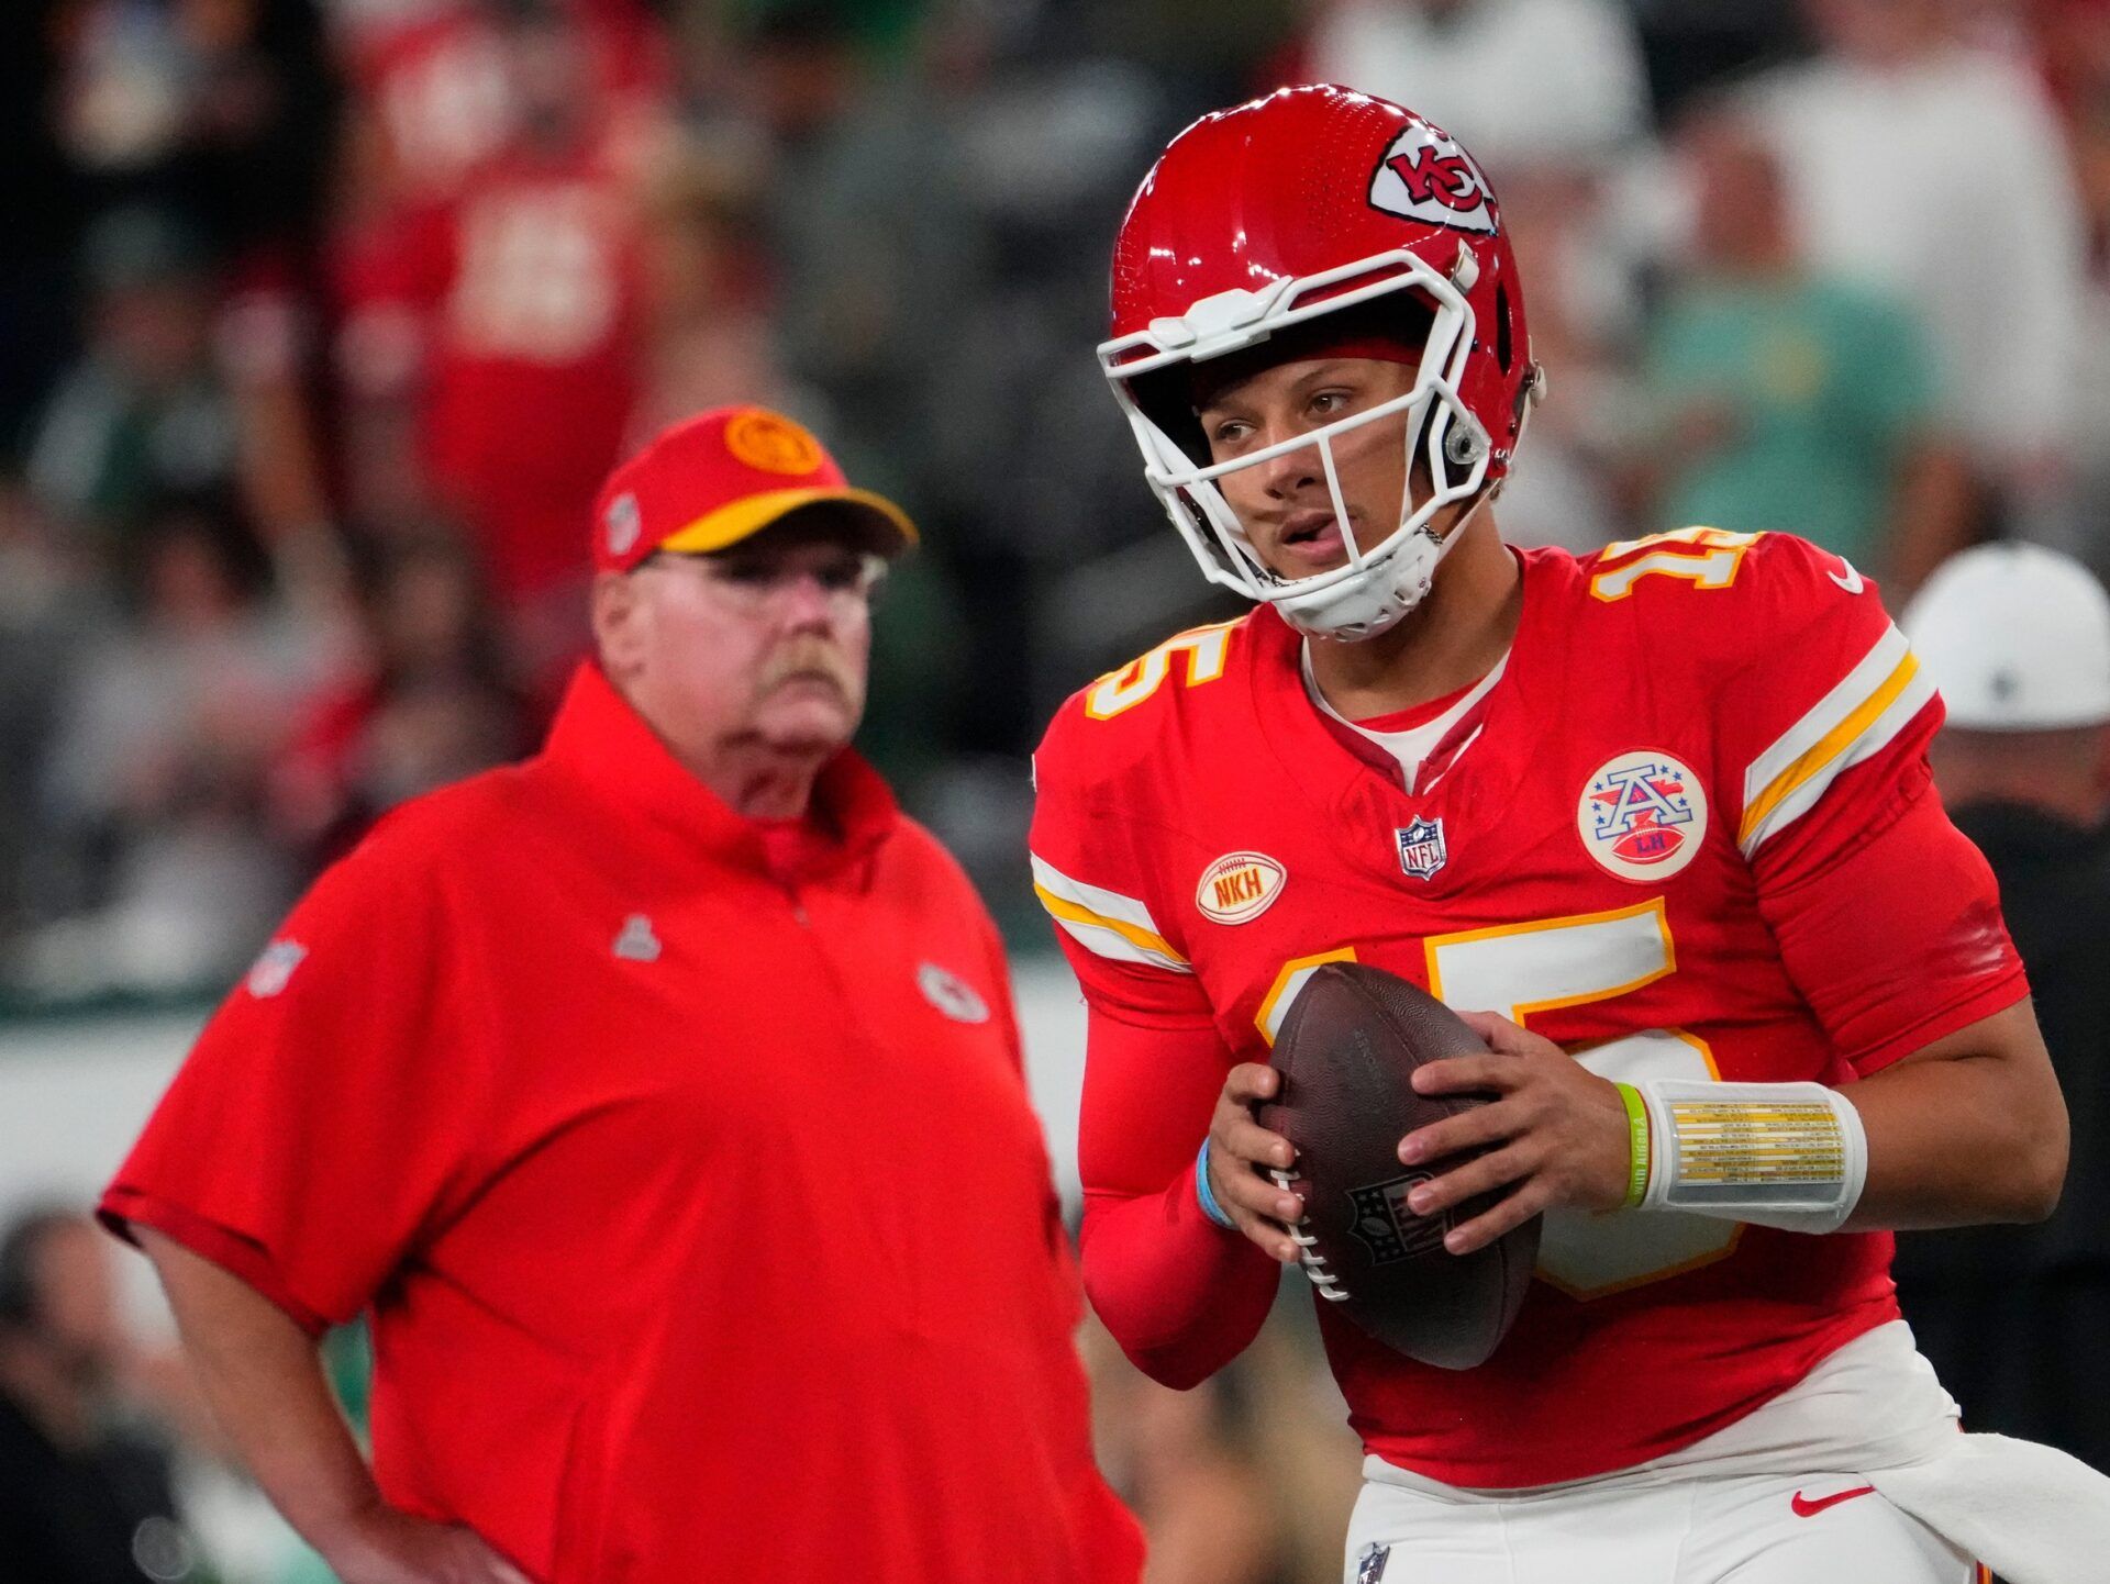
[[[1715,704],[1715,785],[1789,979],[1865,1076],[2028,985],[1992,871],[1931,785],[1941,700],[1874,586],[1787,536],[1743,578],[1764,643]]]

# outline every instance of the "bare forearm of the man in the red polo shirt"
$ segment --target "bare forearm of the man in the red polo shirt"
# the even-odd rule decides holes
[[[135,1232],[219,1428],[285,1521],[325,1559],[344,1552],[382,1498],[314,1341],[238,1276],[152,1228]]]

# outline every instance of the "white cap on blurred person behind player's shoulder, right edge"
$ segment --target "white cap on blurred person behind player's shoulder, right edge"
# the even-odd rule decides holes
[[[1920,664],[1973,732],[2110,721],[2110,595],[2040,544],[1981,544],[1943,561],[1901,618]]]

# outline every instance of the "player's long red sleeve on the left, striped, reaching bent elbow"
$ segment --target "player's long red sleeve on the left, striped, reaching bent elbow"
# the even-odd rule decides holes
[[[1152,1379],[1194,1386],[1260,1331],[1279,1270],[1215,1225],[1194,1156],[1234,1059],[1154,899],[1150,827],[1093,783],[1072,702],[1036,755],[1034,877],[1089,1008],[1078,1175],[1085,1291]],[[1101,734],[1104,736],[1104,734]],[[1160,922],[1163,920],[1163,922]]]

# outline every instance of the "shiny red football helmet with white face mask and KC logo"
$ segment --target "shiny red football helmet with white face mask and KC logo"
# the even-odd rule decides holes
[[[1312,325],[1321,342],[1338,327],[1350,340],[1376,331],[1418,346],[1414,390],[1211,464],[1190,365],[1293,325]],[[1285,348],[1302,344],[1306,335]],[[1099,346],[1099,367],[1144,449],[1150,487],[1209,580],[1277,605],[1308,633],[1350,639],[1382,633],[1428,593],[1456,538],[1437,538],[1433,517],[1496,491],[1542,388],[1488,177],[1412,110],[1331,84],[1203,116],[1171,141],[1114,245],[1114,335]],[[1409,477],[1422,447],[1433,489],[1416,502],[1409,487],[1397,529],[1357,544],[1331,443],[1399,411]],[[1279,578],[1215,479],[1304,445],[1319,449],[1348,565]]]

